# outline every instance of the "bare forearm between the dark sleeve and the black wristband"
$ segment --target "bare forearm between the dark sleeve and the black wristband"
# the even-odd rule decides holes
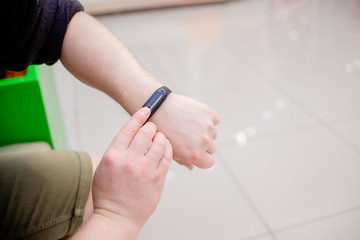
[[[161,86],[107,28],[86,13],[71,20],[63,42],[63,65],[133,114]]]

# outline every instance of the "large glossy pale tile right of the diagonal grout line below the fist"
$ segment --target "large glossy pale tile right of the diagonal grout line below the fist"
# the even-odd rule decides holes
[[[271,229],[360,206],[359,154],[325,128],[234,141],[218,154]]]

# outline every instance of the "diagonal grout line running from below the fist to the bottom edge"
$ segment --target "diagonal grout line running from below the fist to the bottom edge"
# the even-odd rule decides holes
[[[245,201],[250,206],[250,208],[252,209],[252,211],[254,212],[256,217],[258,218],[258,220],[261,222],[261,224],[267,231],[267,234],[269,234],[273,240],[278,240],[278,238],[275,236],[274,232],[271,230],[270,226],[266,222],[265,218],[261,214],[260,210],[256,207],[255,203],[251,200],[249,194],[246,192],[246,190],[244,189],[244,187],[242,186],[240,181],[235,177],[235,174],[231,171],[231,169],[230,169],[229,165],[226,163],[226,160],[224,159],[224,157],[222,157],[221,154],[217,154],[217,156],[219,156],[220,159],[222,160],[221,164],[223,165],[225,171],[228,173],[230,179],[235,184],[235,186],[237,187],[239,192],[244,196]],[[245,238],[245,239],[249,239],[249,238]]]

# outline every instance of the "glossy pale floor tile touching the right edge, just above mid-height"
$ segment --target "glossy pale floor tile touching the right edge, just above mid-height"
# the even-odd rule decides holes
[[[330,71],[331,73],[331,71]],[[330,77],[331,76],[331,77]],[[314,74],[280,83],[280,89],[322,120],[334,123],[360,116],[358,74]],[[321,92],[321,94],[319,94]]]

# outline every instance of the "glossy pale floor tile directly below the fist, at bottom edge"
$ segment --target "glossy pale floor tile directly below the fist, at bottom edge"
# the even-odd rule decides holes
[[[243,239],[266,233],[221,162],[193,172],[174,163],[159,208],[139,239]]]

